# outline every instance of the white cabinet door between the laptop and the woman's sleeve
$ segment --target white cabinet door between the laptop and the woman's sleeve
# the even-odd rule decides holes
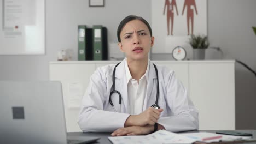
[[[81,131],[77,124],[80,103],[95,63],[50,64],[50,80],[61,81],[67,132]]]

